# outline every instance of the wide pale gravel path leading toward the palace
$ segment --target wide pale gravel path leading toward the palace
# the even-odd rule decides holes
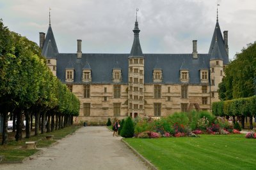
[[[0,164],[0,169],[148,169],[120,139],[106,127],[81,127],[23,164]]]

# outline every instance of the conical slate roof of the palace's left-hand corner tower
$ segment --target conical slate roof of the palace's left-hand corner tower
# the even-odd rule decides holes
[[[51,42],[51,49],[49,48],[49,42]],[[52,27],[51,25],[49,25],[49,28],[45,37],[44,45],[42,48],[42,55],[45,56],[46,58],[52,58],[54,53],[59,53],[59,51],[56,45],[56,41],[54,39]]]

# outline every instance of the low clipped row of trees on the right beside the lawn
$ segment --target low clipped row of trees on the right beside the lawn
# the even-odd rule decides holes
[[[220,117],[241,117],[243,128],[244,118],[249,117],[250,129],[253,129],[252,120],[256,115],[256,96],[214,102],[212,103],[212,113]]]

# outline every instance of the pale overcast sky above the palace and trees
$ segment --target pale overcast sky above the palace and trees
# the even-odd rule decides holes
[[[256,1],[218,1],[229,57],[256,40]],[[11,31],[39,42],[51,25],[60,53],[129,53],[136,8],[143,53],[208,53],[216,24],[216,0],[0,0],[0,18]]]

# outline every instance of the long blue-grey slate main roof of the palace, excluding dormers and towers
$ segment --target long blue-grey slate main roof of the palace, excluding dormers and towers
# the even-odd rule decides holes
[[[115,60],[122,69],[122,82],[128,84],[128,57],[129,53],[83,53],[81,59],[77,59],[76,53],[59,53],[57,57],[57,77],[65,82],[65,66],[68,62],[76,63],[74,66],[74,83],[82,83],[82,69],[86,63],[90,63],[92,69],[91,83],[113,83],[112,69],[115,67]],[[179,80],[180,66],[182,62],[189,63],[189,83],[200,84],[200,66],[205,60],[205,66],[209,68],[211,55],[198,54],[198,59],[193,59],[189,54],[144,54],[145,57],[145,83],[153,83],[152,75],[156,62],[163,71],[163,83],[181,83]]]

